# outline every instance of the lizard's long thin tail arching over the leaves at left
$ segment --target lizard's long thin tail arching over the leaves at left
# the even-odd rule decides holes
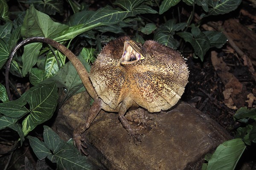
[[[89,95],[96,100],[98,98],[98,95],[96,94],[95,89],[93,88],[93,85],[90,81],[89,75],[86,71],[86,69],[84,68],[84,65],[82,65],[81,61],[76,57],[75,54],[73,54],[69,49],[67,49],[67,47],[65,47],[64,45],[51,40],[49,38],[45,38],[45,37],[31,37],[28,38],[26,40],[21,41],[20,43],[18,43],[15,48],[13,48],[11,54],[10,54],[10,58],[6,64],[6,91],[7,94],[10,98],[11,94],[10,94],[10,89],[9,89],[9,70],[10,70],[10,66],[11,66],[11,62],[12,59],[16,53],[16,51],[23,45],[32,43],[32,42],[44,42],[47,43],[49,45],[52,45],[53,47],[57,48],[59,51],[61,51],[65,56],[67,56],[67,58],[70,60],[70,62],[74,65],[74,67],[76,68],[76,71],[80,77],[80,79],[82,80],[82,83],[85,87],[85,89],[87,90],[87,92],[89,93]],[[12,100],[12,99],[10,99]]]

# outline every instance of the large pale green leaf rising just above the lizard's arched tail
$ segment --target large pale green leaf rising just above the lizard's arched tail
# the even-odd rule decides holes
[[[37,11],[31,5],[26,11],[21,35],[22,37],[42,36],[54,39],[67,28],[67,25],[54,22],[47,14]]]

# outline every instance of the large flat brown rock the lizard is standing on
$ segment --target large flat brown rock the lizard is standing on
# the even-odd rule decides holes
[[[79,101],[70,99],[73,103],[65,103],[57,117],[56,127],[62,135],[65,132],[65,136],[71,137],[72,130],[85,122],[87,109],[81,108],[81,100],[83,96],[88,98],[84,94],[78,96]],[[74,113],[68,105],[76,108]],[[130,118],[132,113],[126,116]],[[201,169],[205,154],[230,139],[218,123],[184,102],[178,102],[167,113],[146,113],[146,116],[152,118],[155,126],[151,130],[139,130],[138,133],[144,135],[139,136],[142,142],[136,145],[116,113],[101,111],[83,134],[90,143],[87,149],[89,159],[99,169]],[[131,124],[138,128],[137,123]]]

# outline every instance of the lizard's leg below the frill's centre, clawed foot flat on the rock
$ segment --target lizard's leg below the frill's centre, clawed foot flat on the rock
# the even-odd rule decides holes
[[[125,118],[125,113],[128,108],[132,106],[133,101],[131,99],[125,99],[122,101],[121,106],[119,108],[118,118],[122,123],[123,127],[128,131],[128,134],[133,138],[134,143],[136,144],[136,140],[141,142],[137,135],[142,135],[139,133],[135,133],[134,128],[131,127],[128,120]],[[136,139],[136,140],[135,140]]]

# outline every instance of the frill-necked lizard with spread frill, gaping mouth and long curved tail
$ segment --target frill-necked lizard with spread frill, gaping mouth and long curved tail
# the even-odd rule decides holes
[[[111,40],[102,49],[88,74],[79,59],[64,45],[44,37],[32,37],[20,42],[12,51],[6,69],[22,45],[31,42],[45,42],[57,48],[72,62],[84,87],[94,99],[85,124],[73,132],[74,141],[85,155],[86,144],[81,134],[90,127],[101,109],[118,112],[123,127],[133,137],[137,133],[125,118],[131,107],[142,107],[149,112],[159,112],[174,106],[183,94],[188,82],[189,71],[180,53],[148,40],[143,45],[121,37]],[[8,88],[8,86],[6,87]]]

